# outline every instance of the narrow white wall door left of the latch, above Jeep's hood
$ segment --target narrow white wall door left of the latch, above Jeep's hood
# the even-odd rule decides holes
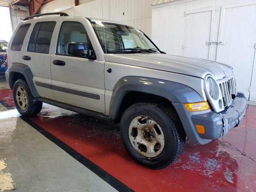
[[[212,59],[215,7],[185,12],[183,56]]]

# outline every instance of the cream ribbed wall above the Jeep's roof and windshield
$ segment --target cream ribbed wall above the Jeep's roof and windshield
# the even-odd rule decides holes
[[[74,6],[74,0],[54,0],[44,4],[39,12],[67,12],[70,16],[103,18],[139,28],[151,37],[152,8],[155,0],[88,0]],[[61,3],[60,3],[61,2]],[[82,3],[82,4],[81,4]],[[70,9],[71,8],[71,9]],[[103,14],[102,14],[103,13]]]

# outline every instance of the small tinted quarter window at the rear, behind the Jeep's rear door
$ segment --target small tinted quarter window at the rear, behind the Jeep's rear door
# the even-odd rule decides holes
[[[25,36],[28,32],[29,27],[30,27],[30,24],[24,24],[24,25],[21,25],[18,28],[18,30],[17,30],[17,32],[14,35],[14,38],[12,40],[11,50],[14,50],[14,51],[20,51],[21,50],[24,38],[25,38]]]

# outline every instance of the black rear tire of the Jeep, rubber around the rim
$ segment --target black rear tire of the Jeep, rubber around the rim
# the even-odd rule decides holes
[[[18,87],[22,87],[24,88],[24,91],[27,94],[27,100],[28,100],[28,105],[26,106],[25,110],[22,110],[20,108],[20,106],[18,105],[17,99],[16,99],[16,92]],[[22,115],[22,116],[26,116],[26,117],[31,117],[31,116],[35,116],[37,115],[41,109],[42,109],[42,102],[37,101],[34,99],[34,97],[32,96],[30,89],[28,87],[28,84],[22,80],[22,79],[18,79],[13,86],[13,100],[14,100],[14,104],[16,106],[16,109],[18,110],[18,112]]]

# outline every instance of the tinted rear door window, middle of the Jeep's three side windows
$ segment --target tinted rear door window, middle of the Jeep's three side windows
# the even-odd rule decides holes
[[[56,22],[39,22],[35,25],[28,43],[28,51],[48,54]]]

